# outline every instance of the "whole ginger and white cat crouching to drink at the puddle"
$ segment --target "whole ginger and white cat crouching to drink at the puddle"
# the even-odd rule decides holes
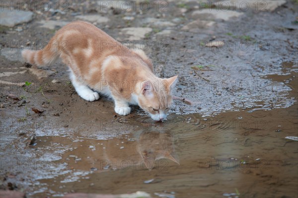
[[[57,31],[39,51],[23,51],[24,60],[35,66],[59,57],[70,67],[77,94],[99,99],[97,92],[115,101],[115,112],[128,115],[129,104],[139,105],[155,121],[164,120],[172,105],[177,76],[161,79],[142,50],[130,50],[108,34],[84,21],[74,21]]]

